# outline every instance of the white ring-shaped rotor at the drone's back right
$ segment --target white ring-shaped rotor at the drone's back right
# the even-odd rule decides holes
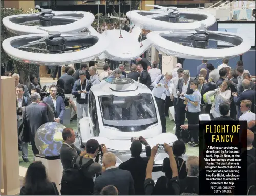
[[[208,13],[180,12],[177,7],[163,7],[158,5],[146,5],[161,8],[159,11],[134,10],[126,13],[133,23],[152,31],[165,30],[194,30],[200,27],[212,26],[216,19]]]

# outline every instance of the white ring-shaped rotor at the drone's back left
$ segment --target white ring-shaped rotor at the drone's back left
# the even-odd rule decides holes
[[[94,15],[90,12],[52,11],[42,9],[40,6],[35,8],[41,10],[41,12],[3,18],[4,26],[18,35],[45,33],[45,31],[76,33],[91,25],[94,21]],[[38,29],[38,26],[41,28]]]

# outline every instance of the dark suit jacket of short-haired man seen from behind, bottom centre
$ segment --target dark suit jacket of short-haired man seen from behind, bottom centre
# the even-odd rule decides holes
[[[126,170],[113,168],[106,169],[94,182],[94,195],[99,195],[102,188],[113,185],[119,195],[135,195],[134,181],[131,173]]]

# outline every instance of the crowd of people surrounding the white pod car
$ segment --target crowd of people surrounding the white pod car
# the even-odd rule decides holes
[[[84,151],[81,151],[73,144],[77,133],[71,128],[66,128],[63,131],[65,142],[61,148],[61,162],[64,170],[83,170],[83,175],[79,176],[83,183],[76,183],[76,189],[70,190],[72,182],[69,179],[72,178],[65,176],[68,174],[64,172],[62,195],[199,194],[199,157],[190,156],[185,161],[182,155],[186,151],[185,143],[191,147],[199,146],[200,114],[209,114],[212,120],[247,121],[247,154],[254,157],[251,161],[254,170],[253,166],[248,165],[248,175],[253,172],[255,174],[255,76],[251,76],[249,71],[244,69],[242,61],[238,61],[234,69],[228,63],[229,60],[224,59],[223,64],[215,68],[207,63],[207,60],[203,60],[197,67],[197,75],[192,77],[189,70],[183,69],[180,63],[172,71],[162,74],[157,62],[151,64],[145,58],[138,58],[130,63],[129,73],[125,71],[124,64],[119,64],[118,68],[112,71],[110,64],[106,63],[99,74],[95,62],[90,61],[88,64],[80,64],[77,70],[72,65],[66,66],[65,74],[59,75],[57,84],[52,84],[49,92],[45,87],[42,88],[36,75],[31,75],[26,86],[19,83],[19,76],[14,73],[12,76],[15,78],[17,95],[18,142],[22,158],[29,163],[29,142],[33,153],[39,153],[34,143],[36,130],[46,122],[63,123],[63,115],[68,106],[69,110],[74,110],[77,115],[78,132],[80,131],[79,120],[83,117],[83,111],[88,116],[88,92],[93,85],[106,78],[131,78],[152,90],[160,115],[162,133],[166,132],[166,107],[168,111],[170,106],[174,106],[174,130],[178,140],[172,147],[164,145],[169,155],[169,159],[164,159],[163,162],[162,171],[165,176],[160,177],[156,183],[152,180],[152,168],[158,146],[151,149],[143,137],[140,141],[132,143],[132,158],[116,166],[115,155],[108,152],[104,144],[89,140]],[[73,97],[76,98],[76,105]],[[188,120],[187,125],[184,124],[185,118]],[[140,157],[142,145],[146,146],[146,158]],[[101,156],[103,155],[102,166],[90,161],[99,151]],[[86,166],[82,167],[83,165]],[[94,180],[95,175],[97,178]],[[40,178],[33,180],[36,176]],[[88,182],[90,186],[86,186],[84,182]],[[34,186],[33,183],[37,184]],[[42,188],[43,185],[46,188]],[[251,186],[248,185],[248,189],[254,193],[256,188]],[[53,192],[58,194],[55,183],[47,179],[42,163],[32,163],[28,168],[21,194]]]

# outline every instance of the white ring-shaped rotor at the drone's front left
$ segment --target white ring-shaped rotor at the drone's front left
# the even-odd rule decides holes
[[[44,33],[10,37],[3,41],[2,46],[14,60],[54,66],[86,62],[98,57],[109,45],[108,40],[99,34],[47,33],[47,36]]]

